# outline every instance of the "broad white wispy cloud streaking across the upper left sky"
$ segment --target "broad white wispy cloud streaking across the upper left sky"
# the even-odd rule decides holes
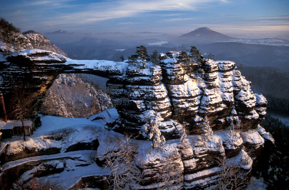
[[[30,7],[30,9],[23,9],[22,16],[34,16],[35,12],[50,13],[46,16],[47,19],[53,19],[54,21],[59,20],[58,23],[70,23],[75,24],[76,22],[97,22],[111,19],[119,19],[125,17],[135,17],[145,12],[154,11],[193,11],[196,6],[205,2],[212,2],[218,0],[108,0],[97,3],[83,3],[83,4],[70,4],[71,0],[66,1],[23,1],[24,4],[16,4],[14,8],[20,9],[21,7]],[[83,1],[85,2],[85,1]],[[59,12],[56,10],[59,9]],[[15,10],[15,9],[14,9]],[[33,11],[32,11],[33,10]],[[10,13],[15,14],[14,17],[21,18],[17,12],[10,9]],[[47,20],[46,19],[46,20]],[[63,22],[60,22],[60,21]]]

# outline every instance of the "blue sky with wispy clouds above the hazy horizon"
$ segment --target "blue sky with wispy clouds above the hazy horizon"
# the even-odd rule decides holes
[[[22,32],[289,34],[287,0],[0,0],[0,17]]]

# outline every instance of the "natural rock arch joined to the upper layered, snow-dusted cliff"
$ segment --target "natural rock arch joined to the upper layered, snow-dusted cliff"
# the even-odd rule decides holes
[[[0,61],[0,90],[10,118],[15,89],[23,90],[37,114],[58,74],[87,73],[109,79],[108,94],[127,130],[139,129],[146,110],[162,115],[165,120],[160,128],[166,135],[176,132],[178,122],[189,133],[197,133],[204,116],[215,130],[227,129],[236,118],[247,128],[256,128],[264,119],[266,98],[253,94],[234,62],[203,60],[199,69],[194,63],[188,70],[178,56],[178,52],[161,54],[160,66],[147,63],[140,69],[125,62],[71,60],[50,51],[25,50]]]

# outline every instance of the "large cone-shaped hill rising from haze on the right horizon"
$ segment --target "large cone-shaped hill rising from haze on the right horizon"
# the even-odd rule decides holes
[[[186,43],[214,43],[221,41],[229,41],[238,39],[230,36],[226,36],[219,32],[213,31],[210,28],[197,28],[196,30],[179,36],[178,40]]]

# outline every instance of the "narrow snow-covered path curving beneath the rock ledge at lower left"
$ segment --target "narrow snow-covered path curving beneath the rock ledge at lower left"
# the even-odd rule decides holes
[[[96,152],[96,151],[95,150],[79,150],[79,151],[66,152],[66,153],[60,153],[60,154],[52,154],[52,155],[45,155],[45,156],[35,156],[35,157],[30,157],[30,158],[23,158],[20,160],[6,162],[5,164],[2,165],[2,170],[4,171],[6,169],[25,164],[26,162],[45,160],[45,159],[64,158],[64,157],[69,157],[69,156],[79,155],[79,154],[91,154],[93,152]]]

